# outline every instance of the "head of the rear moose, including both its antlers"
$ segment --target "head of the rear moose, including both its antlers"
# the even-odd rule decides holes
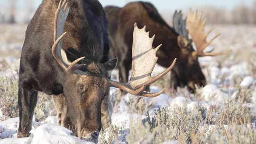
[[[173,17],[173,26],[176,33],[178,33],[177,43],[180,51],[178,54],[179,61],[177,62],[174,71],[172,73],[172,79],[174,79],[174,87],[188,86],[188,89],[192,92],[196,89],[195,85],[203,87],[206,85],[206,79],[201,71],[200,64],[198,62],[199,57],[203,56],[217,56],[226,53],[204,53],[204,50],[209,46],[214,39],[220,34],[214,36],[209,42],[207,42],[207,36],[209,36],[211,29],[208,33],[204,32],[206,20],[204,20],[198,11],[190,11],[187,18],[183,19],[181,11],[175,11]],[[189,38],[189,35],[192,39]],[[196,50],[193,49],[192,42],[196,46]]]

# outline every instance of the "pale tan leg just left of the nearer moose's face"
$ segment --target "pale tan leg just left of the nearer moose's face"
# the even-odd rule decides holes
[[[64,121],[67,114],[67,103],[64,94],[53,95],[54,107],[57,112],[58,124],[64,126]]]

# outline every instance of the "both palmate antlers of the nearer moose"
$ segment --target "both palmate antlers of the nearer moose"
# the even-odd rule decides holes
[[[54,45],[52,46],[52,54],[57,63],[66,72],[76,72],[79,74],[90,75],[90,72],[86,73],[78,69],[79,67],[84,66],[84,64],[77,64],[82,59],[84,59],[84,57],[79,58],[71,63],[70,61],[68,61],[66,53],[62,49],[62,38],[66,34],[64,33],[64,24],[68,13],[69,8],[67,7],[65,0],[64,2],[62,2],[61,0],[55,13]],[[157,57],[155,56],[156,51],[161,46],[159,45],[155,49],[152,48],[154,37],[155,36],[153,36],[152,38],[149,37],[149,32],[146,33],[146,27],[144,27],[143,29],[139,29],[135,24],[132,48],[132,77],[128,83],[111,81],[110,79],[106,78],[109,82],[110,87],[116,87],[132,95],[140,95],[144,97],[156,97],[164,92],[164,90],[161,90],[154,94],[144,92],[146,86],[159,80],[165,74],[170,72],[176,62],[175,59],[172,65],[168,69],[166,69],[165,72],[162,72],[154,78],[151,77],[151,73],[157,61]]]

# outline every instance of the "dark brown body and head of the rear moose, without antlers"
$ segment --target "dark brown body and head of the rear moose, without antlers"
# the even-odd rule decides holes
[[[193,91],[195,84],[199,86],[206,84],[198,59],[192,54],[194,52],[192,45],[184,40],[178,43],[179,35],[164,21],[151,3],[131,2],[123,8],[108,6],[105,10],[109,20],[110,56],[117,55],[119,58],[121,81],[128,81],[133,28],[134,23],[137,23],[139,28],[146,26],[150,36],[156,35],[154,47],[163,44],[157,52],[158,64],[168,67],[174,58],[177,58],[177,63],[172,70],[171,85],[175,88],[188,86],[189,90]]]

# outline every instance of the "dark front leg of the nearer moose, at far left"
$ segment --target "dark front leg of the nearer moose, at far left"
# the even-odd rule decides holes
[[[32,129],[33,114],[37,105],[37,95],[37,91],[27,90],[22,86],[18,88],[19,138],[30,136],[29,132]]]

